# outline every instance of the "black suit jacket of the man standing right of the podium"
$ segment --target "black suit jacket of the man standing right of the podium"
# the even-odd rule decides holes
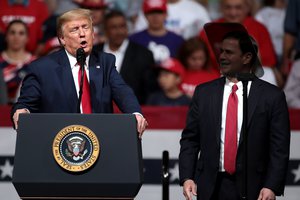
[[[180,141],[181,184],[193,179],[198,199],[209,200],[216,183],[220,159],[220,134],[225,78],[199,85],[190,106]],[[248,199],[269,188],[283,194],[289,161],[290,127],[284,93],[255,79],[248,97]],[[242,136],[242,134],[241,134]],[[240,138],[236,162],[236,182],[242,185],[244,138]],[[198,155],[200,157],[198,159]]]

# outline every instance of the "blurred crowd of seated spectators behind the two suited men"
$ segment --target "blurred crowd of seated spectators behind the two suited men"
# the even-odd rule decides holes
[[[0,1],[0,104],[16,101],[31,61],[60,48],[56,19],[78,7],[92,11],[94,48],[115,55],[142,105],[189,105],[198,84],[221,76],[204,24],[235,22],[258,44],[262,79],[300,108],[297,0]]]

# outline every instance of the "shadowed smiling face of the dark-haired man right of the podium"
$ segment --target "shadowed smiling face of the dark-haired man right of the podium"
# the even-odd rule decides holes
[[[246,67],[251,60],[251,54],[243,54],[239,42],[228,38],[223,40],[220,48],[220,71],[224,76],[234,77],[238,72],[248,72]]]

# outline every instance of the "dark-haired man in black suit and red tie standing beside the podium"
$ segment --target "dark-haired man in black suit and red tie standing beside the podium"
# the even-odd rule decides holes
[[[187,200],[192,195],[198,200],[241,199],[246,140],[243,84],[237,74],[255,71],[254,49],[246,31],[224,34],[218,56],[223,77],[195,90],[180,140],[180,183]],[[290,143],[288,108],[283,91],[256,76],[247,88],[247,199],[271,200],[284,192]]]

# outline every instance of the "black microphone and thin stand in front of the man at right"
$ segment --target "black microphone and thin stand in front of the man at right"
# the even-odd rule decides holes
[[[252,81],[255,78],[254,74],[251,73],[239,73],[237,74],[237,79],[242,81],[243,84],[243,123],[242,123],[242,137],[244,140],[244,156],[242,159],[243,163],[243,185],[242,185],[242,199],[248,199],[248,130],[247,130],[247,123],[248,123],[248,81]]]

